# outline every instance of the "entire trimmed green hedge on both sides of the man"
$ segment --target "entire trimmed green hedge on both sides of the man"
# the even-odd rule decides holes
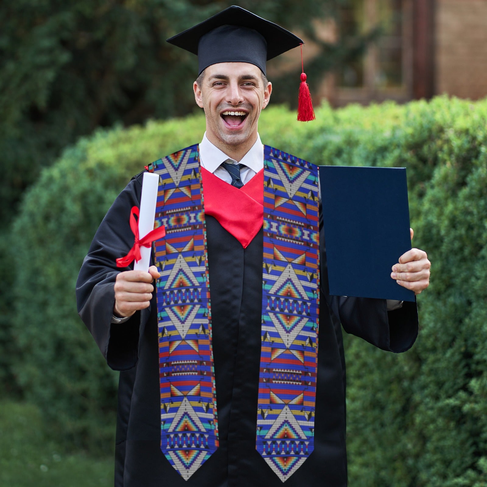
[[[312,162],[408,168],[414,244],[432,261],[421,330],[399,356],[346,337],[352,487],[487,485],[487,101],[262,112],[266,144]],[[66,150],[15,222],[14,371],[57,431],[110,449],[115,376],[75,311],[88,245],[130,176],[198,142],[201,115],[99,131]]]

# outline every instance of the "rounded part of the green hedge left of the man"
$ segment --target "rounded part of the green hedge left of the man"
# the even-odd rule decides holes
[[[25,197],[14,225],[14,372],[28,400],[71,443],[111,449],[117,375],[77,316],[75,282],[103,215],[131,175],[194,140],[201,117],[98,131],[64,152]]]

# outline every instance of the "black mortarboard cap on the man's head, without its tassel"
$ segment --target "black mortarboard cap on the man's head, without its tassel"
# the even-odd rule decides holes
[[[237,5],[168,39],[198,55],[199,74],[220,62],[255,64],[265,75],[265,61],[298,47],[303,41],[281,26]]]

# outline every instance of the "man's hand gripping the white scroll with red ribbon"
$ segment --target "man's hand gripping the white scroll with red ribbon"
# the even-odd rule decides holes
[[[117,274],[113,314],[126,318],[140,309],[148,308],[154,291],[152,281],[159,277],[161,274],[155,265],[149,267],[149,272],[125,271]]]

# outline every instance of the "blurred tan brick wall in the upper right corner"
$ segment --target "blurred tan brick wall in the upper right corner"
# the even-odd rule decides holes
[[[436,0],[435,92],[487,96],[487,0]]]

